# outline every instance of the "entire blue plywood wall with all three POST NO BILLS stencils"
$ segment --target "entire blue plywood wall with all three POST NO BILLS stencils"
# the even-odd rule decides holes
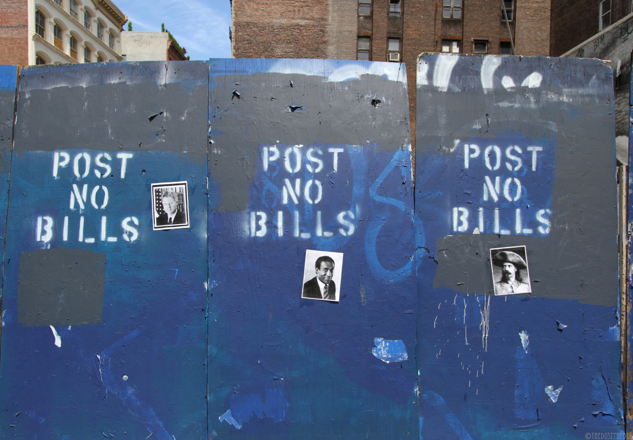
[[[623,432],[600,61],[423,56],[415,192],[398,63],[27,68],[14,141],[15,72],[0,437]],[[494,296],[509,246],[532,292]]]

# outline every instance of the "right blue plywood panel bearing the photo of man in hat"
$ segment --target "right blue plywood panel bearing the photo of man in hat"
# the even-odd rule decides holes
[[[611,69],[428,55],[417,99],[420,436],[624,432]],[[496,296],[512,246],[532,292]]]

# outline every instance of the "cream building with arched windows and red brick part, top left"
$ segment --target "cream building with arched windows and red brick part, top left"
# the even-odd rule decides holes
[[[125,22],[110,0],[3,0],[0,64],[121,61]]]

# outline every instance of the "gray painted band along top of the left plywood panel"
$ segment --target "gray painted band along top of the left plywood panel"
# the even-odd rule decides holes
[[[22,151],[180,149],[206,163],[206,127],[194,129],[191,121],[207,113],[208,86],[201,79],[208,78],[209,67],[184,62],[26,68],[16,124]],[[51,108],[63,108],[72,123],[51,118]],[[38,121],[37,127],[25,121]]]

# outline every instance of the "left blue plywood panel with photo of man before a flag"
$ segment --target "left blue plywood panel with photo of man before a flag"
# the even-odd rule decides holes
[[[206,438],[207,89],[198,62],[22,71],[3,437]],[[153,230],[181,180],[191,227]]]

